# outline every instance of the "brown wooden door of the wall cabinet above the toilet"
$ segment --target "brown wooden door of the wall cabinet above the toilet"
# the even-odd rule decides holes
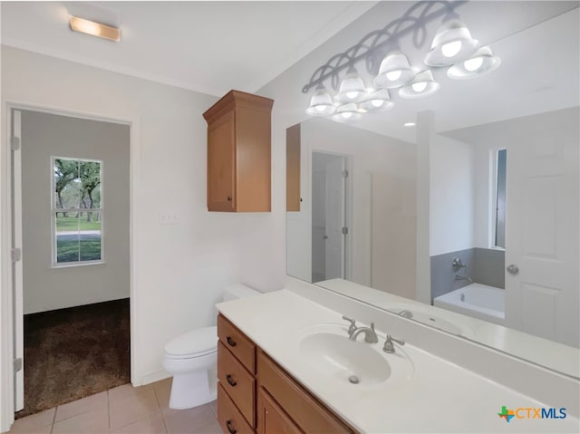
[[[236,210],[236,125],[234,112],[208,126],[208,210]]]

